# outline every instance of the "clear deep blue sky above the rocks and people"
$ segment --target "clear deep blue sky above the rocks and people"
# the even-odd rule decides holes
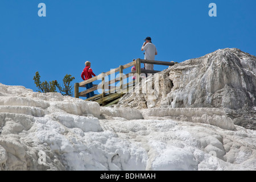
[[[46,17],[38,4],[46,4]],[[210,3],[217,17],[210,17]],[[1,0],[0,82],[36,91],[32,78],[81,82],[86,60],[96,75],[143,59],[146,36],[156,60],[181,62],[220,48],[256,55],[255,0]],[[166,67],[155,67],[164,69]]]

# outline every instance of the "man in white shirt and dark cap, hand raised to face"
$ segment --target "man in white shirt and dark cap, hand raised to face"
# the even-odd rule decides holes
[[[144,59],[146,60],[155,60],[155,55],[158,55],[158,51],[156,50],[156,47],[151,42],[151,38],[148,36],[146,39],[144,39],[145,42],[141,48],[144,52]],[[154,64],[145,64],[145,69],[154,70]]]

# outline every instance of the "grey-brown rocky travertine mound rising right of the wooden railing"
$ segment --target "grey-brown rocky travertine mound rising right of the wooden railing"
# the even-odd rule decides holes
[[[142,80],[142,88],[153,76]],[[218,49],[159,73],[144,93],[122,97],[117,107],[216,107],[234,123],[256,129],[256,57],[237,48]],[[137,86],[138,90],[138,86]]]

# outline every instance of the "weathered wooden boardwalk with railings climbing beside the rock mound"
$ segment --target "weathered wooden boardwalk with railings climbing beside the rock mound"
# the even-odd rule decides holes
[[[120,65],[118,68],[112,69],[111,71],[108,71],[106,73],[101,73],[100,75],[97,75],[95,77],[92,77],[88,80],[79,82],[75,84],[75,97],[86,97],[87,93],[93,92],[95,90],[101,90],[100,94],[95,94],[94,97],[87,98],[86,101],[95,101],[98,102],[101,106],[110,106],[113,104],[117,104],[119,99],[126,94],[127,92],[130,92],[130,90],[134,89],[134,86],[138,84],[141,81],[141,74],[142,73],[158,73],[160,71],[151,71],[141,68],[141,63],[146,64],[158,64],[158,65],[167,65],[172,66],[175,63],[173,61],[151,61],[151,60],[143,60],[143,59],[137,59],[131,63]],[[127,74],[123,73],[124,69],[133,67],[135,65],[136,71],[129,72]],[[106,77],[109,75],[115,74],[119,72],[119,76],[115,77],[113,80],[105,81]],[[135,76],[135,80],[133,81],[127,81],[126,84],[123,84],[125,80],[129,80],[129,77]],[[92,88],[83,90],[79,92],[79,88],[85,88],[86,84],[89,84],[90,82],[101,80],[101,83],[99,85],[93,85]],[[113,86],[116,82],[119,82],[119,86]],[[117,83],[118,84],[118,83]]]

